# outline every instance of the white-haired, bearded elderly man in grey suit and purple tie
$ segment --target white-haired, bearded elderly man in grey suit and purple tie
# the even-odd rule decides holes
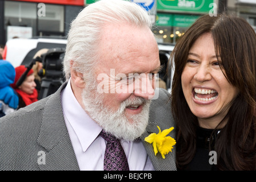
[[[85,7],[71,24],[65,84],[0,120],[0,169],[176,169],[174,149],[163,159],[144,140],[174,125],[168,93],[154,90],[160,62],[150,28],[131,2]]]

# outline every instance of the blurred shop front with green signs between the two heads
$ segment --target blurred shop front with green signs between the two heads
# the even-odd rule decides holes
[[[157,16],[154,34],[158,43],[175,44],[200,16],[208,14],[214,0],[157,0]]]

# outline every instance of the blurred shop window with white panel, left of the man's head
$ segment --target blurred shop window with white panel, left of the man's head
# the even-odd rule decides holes
[[[64,36],[64,6],[43,5],[45,14],[38,16],[38,3],[5,1],[6,40],[14,37]]]

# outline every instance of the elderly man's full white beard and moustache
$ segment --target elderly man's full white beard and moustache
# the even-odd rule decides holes
[[[135,140],[142,135],[149,121],[150,100],[142,97],[127,99],[121,103],[117,111],[113,111],[111,106],[103,104],[103,94],[99,94],[97,89],[93,91],[87,89],[82,93],[85,111],[107,133],[125,140]],[[142,105],[141,113],[126,115],[125,109],[130,105]]]

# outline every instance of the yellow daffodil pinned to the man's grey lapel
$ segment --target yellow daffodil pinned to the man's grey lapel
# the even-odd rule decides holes
[[[157,152],[160,152],[162,158],[165,159],[165,155],[171,152],[171,149],[176,143],[175,139],[171,137],[166,137],[166,135],[169,134],[171,130],[174,129],[174,127],[170,127],[170,129],[163,130],[162,132],[160,127],[157,127],[159,129],[159,133],[150,134],[148,137],[145,138],[145,141],[153,143],[155,155],[157,155]]]

